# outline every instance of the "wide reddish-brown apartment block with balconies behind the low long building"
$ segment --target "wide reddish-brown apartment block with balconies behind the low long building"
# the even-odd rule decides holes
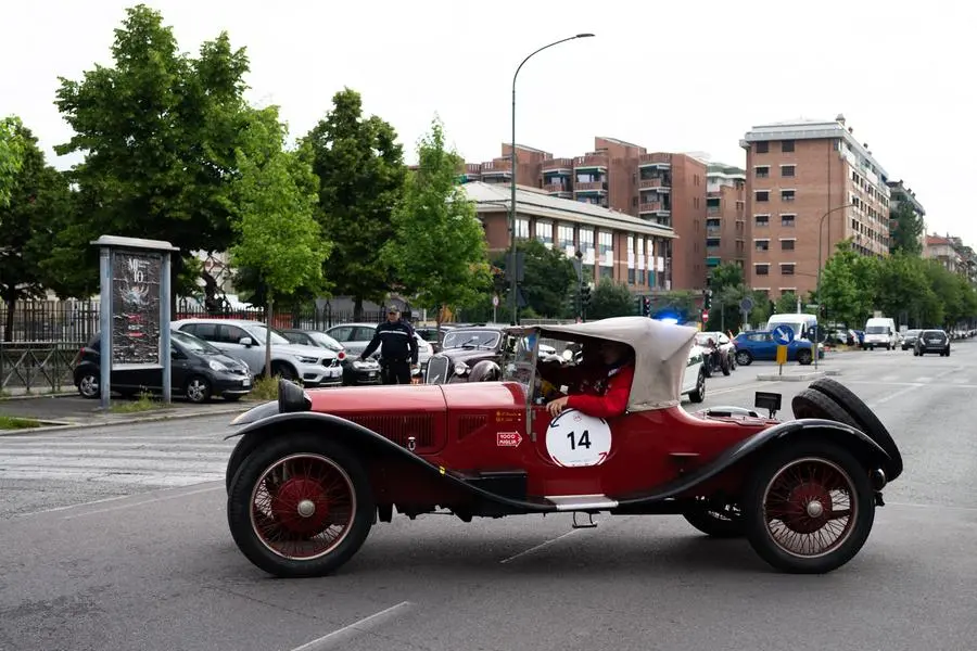
[[[510,145],[502,156],[466,165],[466,178],[508,184]],[[701,290],[706,286],[706,164],[686,154],[649,153],[645,148],[595,138],[594,151],[571,158],[524,145],[516,146],[516,182],[549,196],[573,200],[637,218],[635,224],[665,227],[671,272],[662,289]],[[657,255],[657,254],[656,254]],[[643,289],[635,286],[635,291]]]

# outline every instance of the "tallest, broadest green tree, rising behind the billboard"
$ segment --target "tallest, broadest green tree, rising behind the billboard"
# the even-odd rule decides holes
[[[56,94],[75,136],[55,151],[86,154],[72,174],[79,219],[52,252],[51,265],[68,265],[52,270],[62,276],[96,278],[88,242],[102,233],[167,240],[186,258],[225,251],[233,237],[237,151],[255,119],[243,99],[244,50],[220,34],[191,58],[162,15],[139,4],[115,30],[112,55],[114,66],[98,65],[80,81],[61,78]],[[174,259],[174,282],[185,257]]]

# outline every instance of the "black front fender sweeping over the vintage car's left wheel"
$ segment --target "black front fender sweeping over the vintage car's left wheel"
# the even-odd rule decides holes
[[[401,447],[372,430],[338,416],[314,411],[276,413],[252,422],[239,432],[225,436],[225,441],[237,436],[242,437],[228,460],[227,486],[230,487],[230,483],[240,464],[258,446],[272,437],[288,435],[297,431],[321,432],[323,436],[328,435],[334,441],[341,442],[354,454],[360,455],[363,459],[377,460],[378,458],[386,458],[402,462],[406,468],[418,472],[419,476],[440,482],[440,485],[445,486],[445,488],[460,489],[464,494],[505,506],[515,512],[548,512],[554,510],[553,505],[511,499],[486,490],[481,486],[475,486],[447,469],[431,463],[423,457],[419,457],[413,451]]]

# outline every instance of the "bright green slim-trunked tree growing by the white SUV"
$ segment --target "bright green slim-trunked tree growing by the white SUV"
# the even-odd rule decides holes
[[[270,140],[259,138],[263,142]],[[312,167],[300,153],[281,150],[280,131],[276,139],[278,151],[251,155],[238,151],[241,177],[234,183],[233,199],[240,217],[232,222],[238,242],[230,248],[231,264],[251,269],[264,289],[268,323],[266,376],[271,376],[275,296],[316,286],[332,250],[315,218],[317,196]]]

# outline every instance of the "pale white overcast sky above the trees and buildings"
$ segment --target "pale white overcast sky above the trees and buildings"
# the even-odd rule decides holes
[[[69,138],[53,105],[58,77],[111,65],[116,0],[3,2],[0,115],[17,114],[51,146]],[[251,59],[250,97],[282,108],[293,137],[344,86],[390,122],[414,158],[435,112],[469,162],[510,138],[557,156],[609,136],[650,151],[708,152],[743,166],[753,125],[843,113],[890,179],[904,179],[929,232],[977,247],[962,184],[977,129],[977,3],[938,0],[785,2],[461,2],[459,0],[155,0],[183,50],[227,30]],[[69,161],[55,161],[59,167]]]

